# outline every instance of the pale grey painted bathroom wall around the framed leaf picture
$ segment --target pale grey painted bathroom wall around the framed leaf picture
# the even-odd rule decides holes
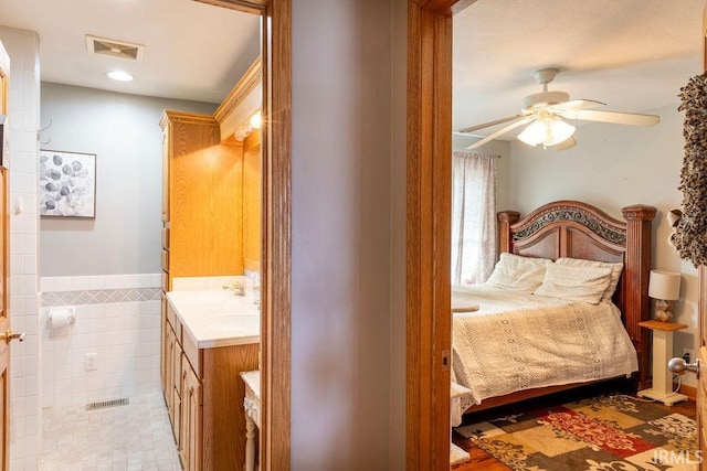
[[[42,149],[96,154],[96,217],[42,217],[43,277],[159,272],[163,109],[214,104],[42,83]]]

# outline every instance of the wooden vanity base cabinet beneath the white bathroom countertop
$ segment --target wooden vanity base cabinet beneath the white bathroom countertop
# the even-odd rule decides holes
[[[257,343],[199,349],[167,304],[163,388],[179,458],[187,471],[240,469],[245,462],[245,388]]]

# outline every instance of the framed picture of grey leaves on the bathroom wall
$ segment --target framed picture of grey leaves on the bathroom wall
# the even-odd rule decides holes
[[[40,151],[40,215],[96,216],[96,154]]]

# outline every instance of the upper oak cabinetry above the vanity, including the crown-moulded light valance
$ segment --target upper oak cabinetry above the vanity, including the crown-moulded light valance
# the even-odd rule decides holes
[[[213,116],[162,114],[162,269],[173,277],[260,270],[261,108],[255,61]]]

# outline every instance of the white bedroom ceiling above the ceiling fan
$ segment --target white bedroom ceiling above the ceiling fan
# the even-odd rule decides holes
[[[679,88],[701,73],[704,6],[477,0],[453,20],[453,129],[517,115],[523,97],[542,90],[531,74],[544,67],[561,71],[548,89],[603,101],[601,109],[644,113],[679,104]]]

